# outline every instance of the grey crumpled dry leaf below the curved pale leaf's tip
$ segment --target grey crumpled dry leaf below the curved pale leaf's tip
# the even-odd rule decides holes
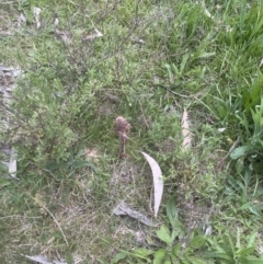
[[[157,226],[157,222],[155,220],[137,210],[133,210],[129,208],[129,206],[122,202],[117,207],[113,210],[113,214],[116,216],[129,216],[132,218],[137,219],[138,221],[145,223],[148,227],[155,227]]]

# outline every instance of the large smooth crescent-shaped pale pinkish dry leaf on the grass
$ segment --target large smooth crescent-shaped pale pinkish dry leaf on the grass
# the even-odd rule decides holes
[[[151,172],[152,172],[152,177],[153,177],[153,187],[155,187],[155,217],[157,217],[161,199],[162,199],[162,193],[163,193],[163,179],[162,179],[162,173],[159,164],[157,161],[151,158],[149,154],[141,152],[146,160],[148,161]]]

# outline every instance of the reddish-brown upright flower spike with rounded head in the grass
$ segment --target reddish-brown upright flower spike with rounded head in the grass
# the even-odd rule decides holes
[[[119,157],[124,158],[126,156],[125,153],[125,144],[128,139],[126,133],[128,133],[130,129],[129,123],[123,117],[118,116],[114,122],[114,131],[117,134],[121,142],[119,147]]]

